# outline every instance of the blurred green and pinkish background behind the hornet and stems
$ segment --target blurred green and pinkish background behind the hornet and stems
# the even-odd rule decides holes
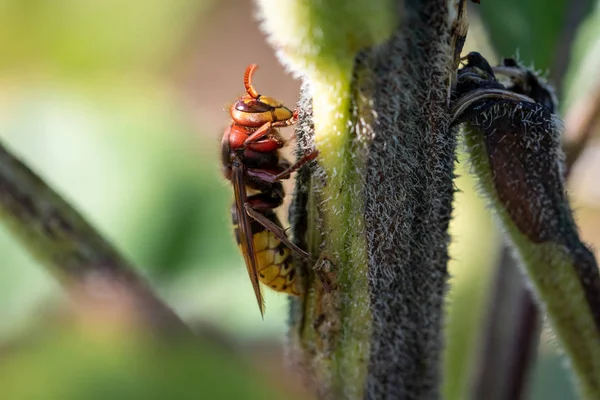
[[[555,82],[567,99],[564,113],[598,79],[595,2],[581,27],[568,25],[567,1],[482,3],[483,23],[473,16],[467,50],[491,62],[518,51],[541,70],[566,63],[566,78]],[[261,320],[231,231],[231,189],[220,175],[225,110],[243,92],[246,65],[258,63],[256,86],[288,105],[299,90],[254,15],[239,0],[0,0],[1,140],[218,343],[163,348],[111,327],[117,320],[73,317],[53,277],[0,227],[0,398],[307,397],[281,368],[286,297],[265,291]],[[574,44],[561,54],[568,29]],[[582,235],[596,247],[598,151],[589,146],[570,187]],[[466,393],[500,237],[460,159],[448,399]],[[529,398],[575,398],[561,365],[545,333]]]

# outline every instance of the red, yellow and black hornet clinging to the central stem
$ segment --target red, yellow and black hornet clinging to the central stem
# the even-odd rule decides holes
[[[232,122],[221,142],[223,174],[233,184],[231,208],[235,237],[244,256],[261,315],[264,300],[259,282],[278,292],[299,295],[291,252],[310,259],[292,243],[274,209],[283,203],[282,179],[316,158],[315,150],[290,164],[279,155],[285,141],[278,128],[298,120],[280,101],[258,94],[252,85],[257,65],[244,74],[246,94],[230,108]]]

